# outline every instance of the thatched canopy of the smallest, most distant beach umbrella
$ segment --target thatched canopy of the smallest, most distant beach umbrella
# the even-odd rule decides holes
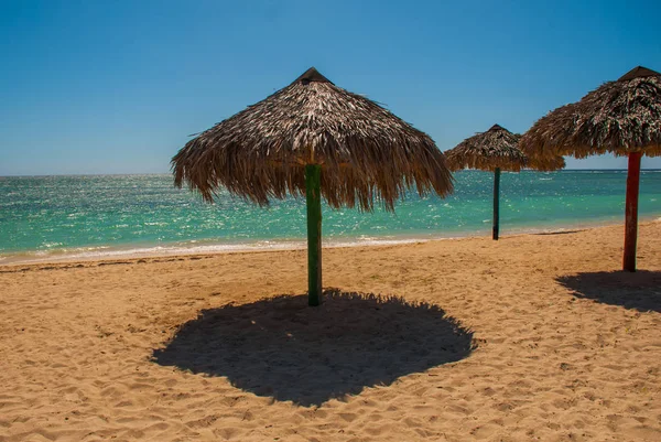
[[[525,155],[518,147],[520,138],[520,134],[494,125],[486,132],[476,133],[446,151],[447,164],[452,171],[468,168],[518,172],[527,164]]]

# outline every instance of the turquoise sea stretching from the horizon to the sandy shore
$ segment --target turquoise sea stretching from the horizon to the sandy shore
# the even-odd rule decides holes
[[[626,171],[525,171],[501,177],[501,236],[624,222]],[[395,213],[323,208],[325,245],[489,235],[492,174],[455,174],[445,198],[411,193]],[[641,219],[661,217],[661,171],[642,171]],[[172,176],[0,177],[0,263],[301,247],[303,200],[259,208],[202,202]]]

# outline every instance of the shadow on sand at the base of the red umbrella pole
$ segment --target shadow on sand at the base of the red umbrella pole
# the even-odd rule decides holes
[[[577,298],[641,312],[661,312],[660,271],[599,271],[560,277],[556,281]]]

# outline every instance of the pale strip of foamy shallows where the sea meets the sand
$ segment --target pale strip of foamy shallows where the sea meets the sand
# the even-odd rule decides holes
[[[641,217],[639,219],[639,226],[647,224],[661,223],[661,217],[652,215],[649,217]],[[572,225],[562,225],[555,228],[521,228],[510,230],[506,235],[501,235],[501,239],[507,237],[520,237],[527,235],[554,235],[554,234],[568,234],[584,230],[593,230],[599,228],[609,228],[615,226],[622,226],[622,222],[613,223],[576,223]],[[472,239],[472,238],[486,238],[490,237],[490,229],[486,231],[473,231],[457,235],[440,236],[432,235],[429,237],[422,236],[399,236],[399,237],[383,237],[383,238],[357,238],[356,240],[327,240],[324,241],[324,249],[338,249],[338,248],[375,248],[375,247],[389,247],[389,246],[405,246],[412,244],[423,244],[431,241],[447,241],[447,240],[459,240],[459,239]],[[197,242],[197,241],[195,241]],[[25,257],[25,252],[19,252],[15,255],[9,255],[9,260],[0,261],[0,269],[11,268],[17,266],[43,266],[43,265],[67,265],[77,262],[106,262],[106,261],[132,261],[138,259],[159,259],[159,258],[173,258],[173,257],[202,257],[202,256],[216,256],[216,255],[243,255],[243,254],[263,254],[263,252],[277,252],[277,251],[300,251],[306,249],[304,239],[299,240],[262,240],[251,244],[208,244],[202,246],[151,246],[145,248],[136,248],[134,245],[128,245],[126,248],[122,247],[106,247],[101,246],[101,250],[87,250],[75,251],[72,254],[63,254],[59,256],[44,256],[44,257]],[[28,252],[29,254],[29,252]],[[18,259],[11,259],[12,257],[19,257]],[[6,258],[7,259],[7,258]]]

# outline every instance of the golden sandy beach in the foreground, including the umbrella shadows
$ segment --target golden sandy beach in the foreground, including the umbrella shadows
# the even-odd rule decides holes
[[[0,441],[661,441],[622,230],[0,267]]]

